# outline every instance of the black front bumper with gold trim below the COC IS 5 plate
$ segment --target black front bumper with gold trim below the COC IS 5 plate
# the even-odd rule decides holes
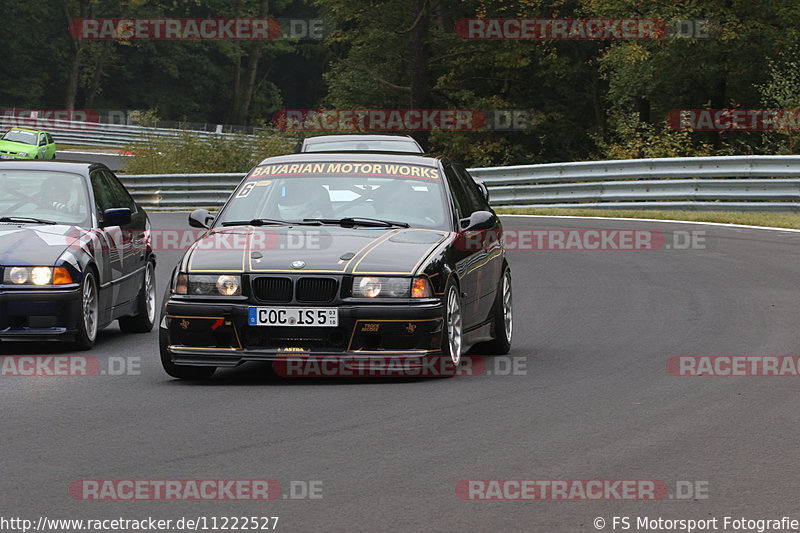
[[[339,325],[249,326],[252,304],[170,299],[160,324],[162,351],[175,364],[237,366],[245,361],[292,361],[339,356],[352,361],[441,354],[440,300],[413,304],[339,304]]]

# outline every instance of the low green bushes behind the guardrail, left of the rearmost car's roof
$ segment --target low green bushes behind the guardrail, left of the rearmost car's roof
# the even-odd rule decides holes
[[[255,136],[201,136],[190,131],[177,137],[150,135],[126,147],[136,155],[125,164],[128,174],[247,172],[265,157],[291,153],[295,139],[261,130]]]

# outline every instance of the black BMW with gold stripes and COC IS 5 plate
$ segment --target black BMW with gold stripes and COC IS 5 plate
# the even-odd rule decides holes
[[[446,158],[294,154],[253,168],[172,276],[161,359],[202,379],[244,361],[507,353],[511,270],[485,186]],[[407,367],[406,367],[407,368]]]

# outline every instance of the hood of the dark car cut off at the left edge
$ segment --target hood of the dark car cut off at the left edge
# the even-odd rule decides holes
[[[0,223],[0,265],[54,265],[86,230],[70,225]]]

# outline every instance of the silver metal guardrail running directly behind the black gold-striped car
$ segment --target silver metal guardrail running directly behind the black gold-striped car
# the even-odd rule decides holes
[[[631,159],[469,170],[486,183],[495,207],[800,212],[800,156]],[[218,208],[243,177],[120,175],[137,201],[151,210]]]

